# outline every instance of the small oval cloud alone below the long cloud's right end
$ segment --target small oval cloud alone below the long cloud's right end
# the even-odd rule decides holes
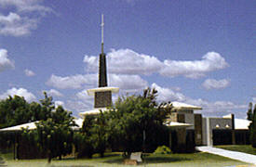
[[[207,79],[204,83],[202,83],[202,85],[207,90],[223,89],[230,85],[230,81],[226,79],[222,79],[222,80]]]

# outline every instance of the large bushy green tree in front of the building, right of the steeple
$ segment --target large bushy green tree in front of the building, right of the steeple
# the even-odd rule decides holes
[[[163,139],[157,138],[167,132],[163,122],[169,109],[164,108],[168,106],[165,103],[157,104],[156,94],[155,89],[148,88],[141,96],[119,97],[115,109],[104,112],[108,120],[108,141],[122,148],[125,156],[142,150],[143,131],[146,134],[146,148],[155,149],[164,145],[161,143]]]

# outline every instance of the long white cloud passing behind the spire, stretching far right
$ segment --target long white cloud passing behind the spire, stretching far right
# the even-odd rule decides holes
[[[209,71],[222,70],[228,67],[227,62],[216,52],[209,52],[201,60],[179,61],[165,59],[160,61],[154,56],[136,53],[130,49],[111,50],[107,54],[108,71],[117,74],[145,74],[159,73],[163,76],[184,76],[198,78]],[[98,70],[98,57],[85,56],[87,71]]]

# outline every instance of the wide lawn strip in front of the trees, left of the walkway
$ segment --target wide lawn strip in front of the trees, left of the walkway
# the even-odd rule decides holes
[[[10,154],[0,154],[6,161],[7,166],[11,167],[94,167],[94,166],[125,166],[122,164],[122,157],[120,154],[111,154],[105,158],[93,158],[93,159],[69,159],[69,160],[53,160],[49,165],[47,160],[11,160]],[[223,167],[246,164],[240,161],[233,161],[220,156],[211,155],[208,153],[193,153],[193,154],[170,154],[170,155],[153,155],[150,154],[145,159],[146,166],[190,166],[190,167]],[[144,164],[141,163],[140,166]],[[128,165],[126,165],[128,166]]]

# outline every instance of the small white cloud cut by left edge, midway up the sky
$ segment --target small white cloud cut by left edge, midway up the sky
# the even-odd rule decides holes
[[[8,59],[6,49],[0,49],[0,72],[8,69],[14,69],[14,62]]]

